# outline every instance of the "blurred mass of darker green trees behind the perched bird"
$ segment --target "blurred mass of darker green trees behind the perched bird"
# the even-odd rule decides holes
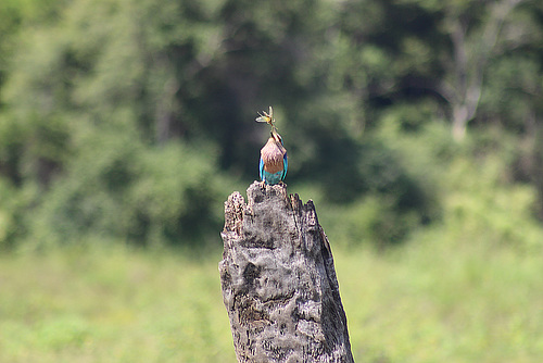
[[[198,214],[217,226],[215,198],[233,177],[257,175],[267,130],[252,120],[273,104],[287,182],[316,186],[379,239],[397,240],[439,213],[427,175],[393,140],[437,120],[457,138],[471,123],[528,139],[541,120],[536,0],[35,0],[0,10],[0,176],[2,190],[17,190],[0,195],[21,198],[7,221],[35,236],[146,243],[209,230]],[[391,124],[400,132],[383,136]]]

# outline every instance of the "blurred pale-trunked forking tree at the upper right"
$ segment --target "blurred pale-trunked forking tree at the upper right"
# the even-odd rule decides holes
[[[443,9],[443,27],[451,39],[452,57],[451,63],[445,63],[450,76],[440,84],[440,93],[451,104],[453,135],[457,140],[464,138],[468,122],[476,116],[489,63],[507,51],[503,39],[510,39],[512,35],[503,30],[507,29],[506,22],[512,21],[510,13],[522,1],[457,1]]]

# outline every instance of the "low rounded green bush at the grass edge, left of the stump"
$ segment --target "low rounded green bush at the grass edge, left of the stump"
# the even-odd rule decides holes
[[[136,135],[116,133],[87,141],[26,221],[35,246],[84,237],[202,245],[216,236],[229,185],[216,178],[212,150],[194,153],[180,142],[149,150]]]

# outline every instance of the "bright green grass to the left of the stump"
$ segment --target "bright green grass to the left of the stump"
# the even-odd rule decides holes
[[[126,248],[0,258],[0,362],[236,362],[220,254]]]

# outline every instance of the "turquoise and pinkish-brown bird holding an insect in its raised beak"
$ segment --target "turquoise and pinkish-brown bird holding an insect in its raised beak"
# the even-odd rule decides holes
[[[263,114],[258,113],[256,122],[265,122],[272,126],[270,137],[266,145],[261,149],[261,160],[258,163],[258,171],[262,185],[276,185],[282,183],[287,176],[289,167],[287,149],[282,142],[282,137],[277,133],[277,127],[274,125],[274,110],[269,107],[269,113],[265,111]]]

